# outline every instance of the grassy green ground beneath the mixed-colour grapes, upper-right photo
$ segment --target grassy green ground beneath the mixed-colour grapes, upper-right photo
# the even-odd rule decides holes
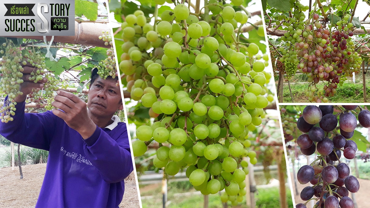
[[[306,75],[300,74],[292,77],[290,80],[290,88],[292,89],[292,94],[294,98],[294,103],[309,103],[306,98],[306,95],[303,91],[308,87],[309,83],[305,83]],[[275,78],[275,85],[279,78]],[[370,102],[370,73],[365,75],[366,80],[366,95],[367,102]],[[344,82],[343,86],[337,87],[337,93],[333,97],[329,97],[330,103],[364,103],[364,94],[363,94],[363,84],[362,84],[362,74],[356,74],[355,78],[356,83],[352,82],[352,78],[349,77],[347,81]],[[317,84],[318,87],[323,88],[324,84],[320,82]],[[283,85],[283,103],[292,103],[292,97],[290,96],[289,87],[286,81]]]

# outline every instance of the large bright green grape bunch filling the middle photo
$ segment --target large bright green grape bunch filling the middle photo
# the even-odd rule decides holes
[[[243,157],[257,162],[256,152],[247,150],[249,131],[262,123],[263,108],[273,101],[265,86],[271,74],[264,71],[268,56],[256,44],[236,44],[234,30],[248,16],[217,0],[207,7],[213,14],[198,18],[177,4],[162,13],[156,30],[142,11],[127,15],[119,67],[131,99],[156,118],[137,128],[134,156],[158,142],[155,167],[166,175],[186,168],[196,190],[225,189],[221,200],[237,204],[248,174]]]

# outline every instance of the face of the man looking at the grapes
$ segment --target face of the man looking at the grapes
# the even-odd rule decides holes
[[[118,109],[123,109],[120,87],[117,80],[98,76],[91,84],[87,106],[92,114],[98,117],[112,116]]]

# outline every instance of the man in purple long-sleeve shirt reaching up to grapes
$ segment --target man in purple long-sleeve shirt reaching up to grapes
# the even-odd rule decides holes
[[[14,120],[0,124],[0,134],[18,144],[49,151],[36,207],[118,207],[124,178],[133,170],[127,127],[114,113],[123,109],[117,80],[92,71],[88,109],[72,93],[57,91],[52,111],[24,113],[25,99],[46,78],[28,81],[34,67],[24,66],[15,98]],[[56,109],[58,108],[58,109]]]

